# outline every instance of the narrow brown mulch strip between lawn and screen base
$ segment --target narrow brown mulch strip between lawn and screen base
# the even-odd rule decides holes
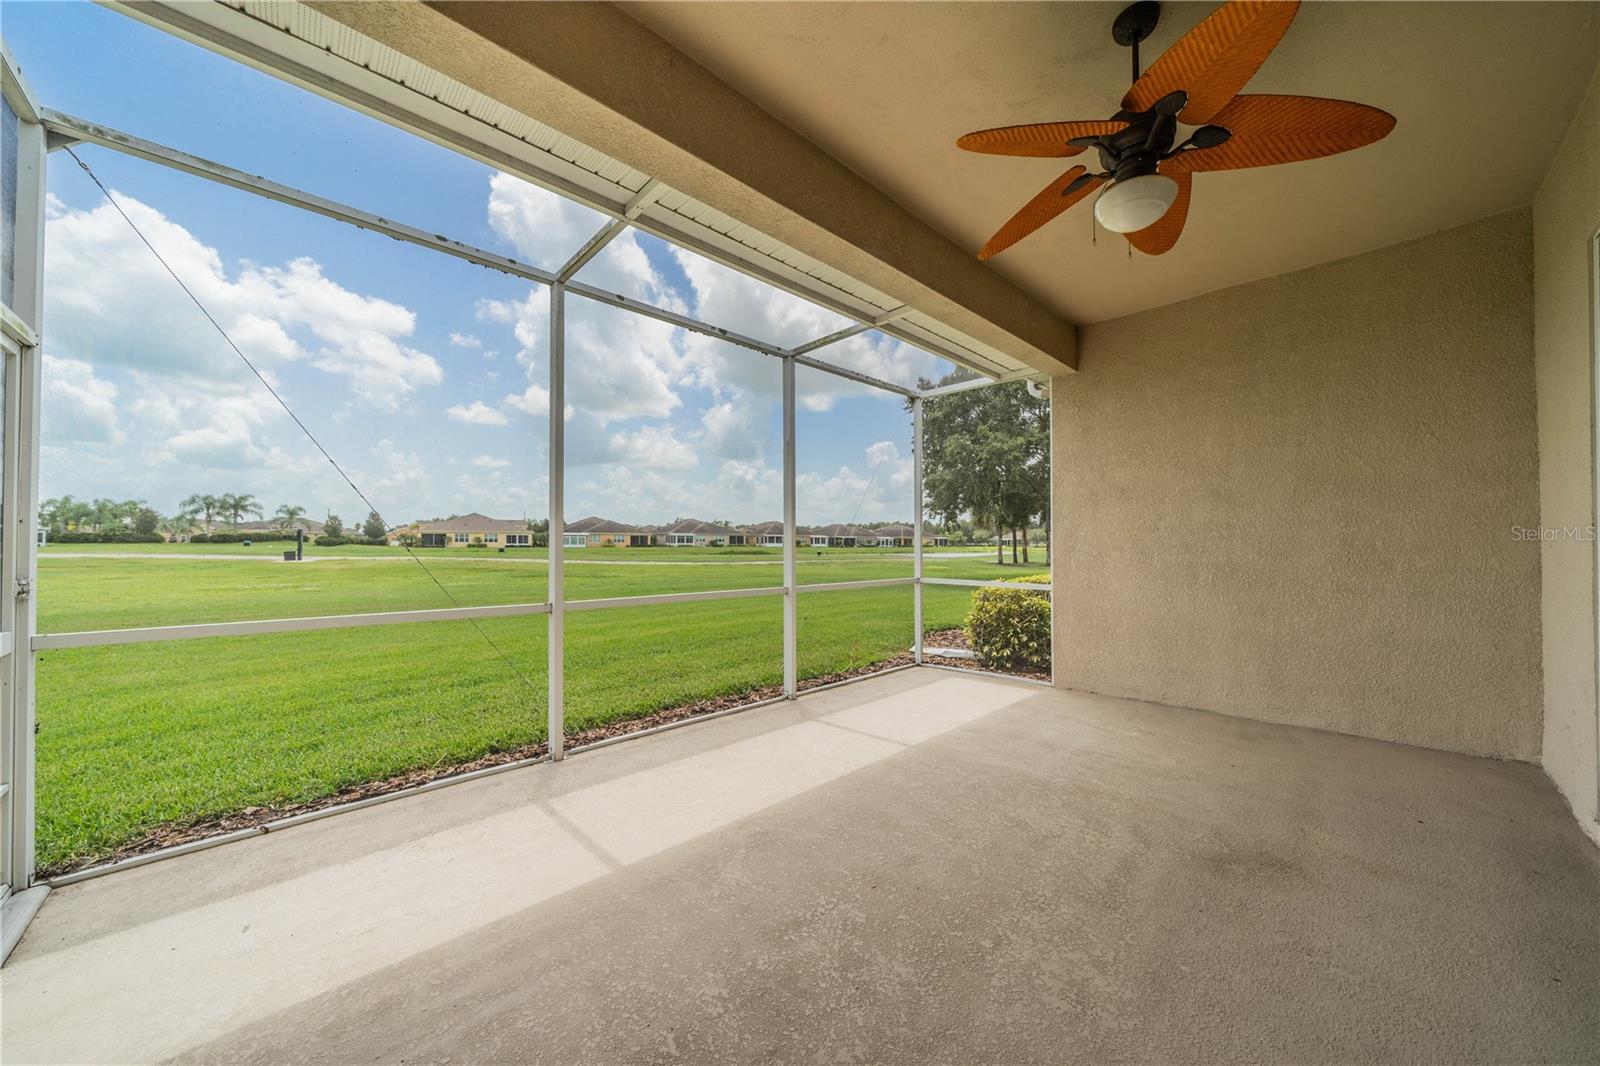
[[[954,632],[960,632],[958,629]],[[910,666],[910,653],[896,655],[890,659],[874,663],[872,666],[862,666],[853,671],[843,671],[838,674],[826,674],[822,677],[811,677],[800,682],[800,691],[810,691],[822,685],[832,685],[835,682],[850,680],[853,677],[866,677],[867,674],[878,674],[882,671],[894,669],[896,666]],[[733,693],[728,696],[714,696],[710,699],[699,699],[696,703],[686,703],[678,707],[667,707],[664,711],[656,711],[654,714],[646,714],[640,719],[627,719],[621,722],[610,722],[606,725],[597,725],[589,730],[581,730],[578,733],[570,733],[566,736],[566,747],[581,747],[582,744],[592,744],[600,739],[608,739],[611,736],[626,736],[629,733],[640,733],[643,730],[656,728],[658,725],[669,725],[672,722],[682,722],[685,719],[698,719],[707,714],[715,714],[717,711],[728,711],[733,707],[742,707],[746,704],[760,703],[763,699],[776,699],[784,695],[782,685],[766,685],[763,688],[755,688],[752,691]],[[192,844],[195,840],[205,840],[206,837],[218,837],[226,832],[237,832],[240,829],[259,829],[261,826],[278,821],[280,818],[293,818],[294,815],[306,815],[314,810],[323,810],[328,807],[338,807],[341,804],[354,804],[357,800],[371,799],[374,795],[387,795],[389,792],[398,792],[402,789],[416,787],[419,784],[427,784],[429,781],[440,781],[443,778],[453,778],[462,773],[472,773],[474,770],[485,770],[488,767],[501,767],[509,762],[522,762],[525,759],[539,759],[550,752],[549,744],[525,744],[522,747],[512,747],[509,751],[496,751],[486,755],[480,755],[472,762],[456,762],[437,767],[422,767],[418,770],[410,770],[406,773],[395,775],[392,778],[384,778],[381,781],[368,781],[365,784],[350,784],[330,795],[322,795],[304,804],[288,804],[283,807],[246,807],[245,810],[235,812],[232,815],[222,815],[221,818],[205,818],[198,821],[187,823],[168,823],[163,826],[155,826],[142,837],[130,840],[117,847],[110,855],[98,856],[86,863],[66,863],[61,866],[42,868],[38,871],[40,877],[54,877],[58,874],[66,874],[83,866],[98,866],[102,863],[114,863],[136,855],[149,855],[150,852],[158,852],[162,848],[178,847],[179,844]]]

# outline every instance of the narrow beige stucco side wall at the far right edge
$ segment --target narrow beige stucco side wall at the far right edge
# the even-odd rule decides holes
[[[1534,365],[1539,389],[1539,504],[1549,530],[1592,528],[1592,254],[1600,229],[1600,77],[1589,88],[1533,202]],[[1544,768],[1600,840],[1595,823],[1595,576],[1586,539],[1542,544]]]

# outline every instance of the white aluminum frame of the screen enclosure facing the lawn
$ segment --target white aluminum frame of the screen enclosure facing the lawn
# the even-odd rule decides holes
[[[11,91],[11,82],[6,82],[6,91]],[[21,114],[21,110],[19,110]],[[326,616],[310,616],[310,618],[277,618],[277,619],[253,619],[253,621],[230,621],[230,623],[200,623],[200,624],[178,624],[178,626],[150,626],[139,629],[117,629],[117,631],[88,631],[88,632],[54,632],[54,634],[35,634],[32,626],[32,602],[27,602],[26,611],[21,608],[18,613],[18,639],[14,648],[26,648],[27,653],[22,655],[5,655],[0,650],[0,658],[8,666],[6,671],[6,699],[13,696],[24,696],[27,704],[26,717],[26,736],[21,736],[18,744],[18,754],[26,749],[26,770],[21,781],[26,787],[0,787],[0,800],[18,805],[19,810],[26,810],[26,834],[13,834],[10,861],[13,863],[13,871],[22,871],[19,884],[27,885],[32,882],[32,667],[34,655],[38,651],[50,650],[67,650],[67,648],[83,648],[83,647],[106,647],[106,645],[122,645],[122,643],[147,643],[162,640],[190,640],[190,639],[210,639],[210,637],[237,637],[237,635],[258,635],[272,632],[302,632],[302,631],[320,631],[320,629],[342,629],[342,627],[358,627],[358,626],[389,626],[389,624],[408,624],[408,623],[426,623],[426,621],[451,621],[451,619],[474,619],[474,618],[504,618],[504,616],[526,616],[526,615],[549,615],[549,754],[539,759],[522,760],[514,763],[506,763],[501,767],[490,767],[482,771],[456,775],[451,778],[442,778],[413,789],[405,789],[392,795],[373,797],[368,800],[360,800],[357,804],[347,804],[339,807],[330,807],[320,812],[312,812],[309,815],[301,815],[290,820],[280,820],[278,823],[269,823],[261,828],[240,831],[237,834],[226,834],[211,840],[202,840],[190,845],[181,845],[176,848],[166,848],[158,853],[138,856],[134,860],[125,860],[120,863],[110,863],[104,866],[90,868],[85,871],[77,871],[74,874],[54,879],[53,884],[69,884],[72,880],[82,880],[85,877],[98,876],[101,872],[109,872],[112,869],[126,869],[130,866],[141,866],[144,863],[154,861],[157,858],[165,858],[170,855],[186,853],[192,850],[200,850],[203,847],[213,847],[237,837],[258,836],[272,829],[286,828],[288,824],[298,824],[299,821],[307,821],[312,818],[322,818],[341,810],[352,810],[357,807],[366,807],[376,802],[386,802],[400,795],[414,794],[419,791],[429,791],[434,787],[442,787],[456,781],[472,779],[485,773],[499,773],[518,765],[528,765],[530,762],[558,762],[568,754],[565,751],[565,615],[566,611],[590,611],[590,610],[613,610],[613,608],[629,608],[629,607],[651,607],[666,603],[698,603],[698,602],[715,602],[715,600],[731,600],[731,599],[754,599],[754,597],[774,597],[781,595],[784,599],[784,698],[794,699],[800,693],[798,685],[798,597],[800,594],[813,592],[834,592],[846,589],[872,589],[872,587],[901,587],[910,586],[914,589],[914,651],[915,661],[923,663],[923,584],[962,584],[974,587],[1021,587],[1021,589],[1045,589],[1050,586],[1040,584],[1014,584],[1002,581],[960,581],[950,578],[925,578],[923,576],[923,442],[922,442],[922,419],[923,419],[923,399],[946,395],[949,392],[960,392],[966,389],[984,387],[990,384],[998,384],[1000,381],[1011,379],[1005,378],[976,378],[973,381],[957,383],[954,386],[934,387],[926,391],[910,389],[890,381],[880,381],[870,375],[864,375],[843,367],[830,365],[824,360],[814,359],[810,354],[826,349],[830,344],[848,339],[851,336],[866,333],[875,328],[885,328],[894,323],[898,319],[910,312],[909,307],[898,307],[893,311],[882,312],[874,317],[862,317],[856,311],[845,304],[830,304],[821,301],[818,295],[810,291],[797,291],[792,285],[786,283],[782,279],[774,279],[765,275],[758,269],[752,269],[746,262],[731,262],[726,256],[718,254],[715,250],[707,250],[698,242],[683,240],[678,234],[662,232],[659,227],[653,227],[643,218],[645,210],[664,192],[659,182],[650,181],[642,187],[629,203],[622,205],[619,210],[608,205],[595,205],[590,198],[579,197],[581,202],[590,206],[600,206],[610,218],[584,245],[571,254],[571,258],[563,262],[563,266],[555,271],[542,271],[539,267],[518,262],[507,256],[486,251],[483,248],[475,248],[472,245],[442,237],[438,234],[430,234],[405,222],[397,222],[394,219],[363,211],[352,205],[339,203],[326,197],[320,197],[291,186],[285,186],[267,178],[256,174],[248,174],[237,168],[226,166],[222,163],[190,155],[178,149],[146,141],[133,134],[114,130],[110,126],[102,126],[98,123],[77,118],[74,115],[66,115],[62,112],[35,109],[38,117],[38,125],[35,126],[40,157],[46,149],[62,147],[75,142],[96,144],[106,149],[123,152],[146,162],[152,162],[162,166],[179,170],[208,181],[216,181],[224,186],[240,189],[243,192],[251,192],[280,203],[298,206],[325,218],[355,226],[358,229],[368,229],[387,237],[403,240],[432,251],[453,256],[477,266],[483,266],[502,274],[509,274],[533,283],[546,285],[549,288],[550,298],[550,367],[549,367],[549,395],[550,395],[550,419],[549,419],[549,520],[550,520],[550,536],[549,536],[549,602],[541,603],[507,603],[507,605],[486,605],[486,607],[451,607],[438,610],[405,610],[405,611],[379,611],[379,613],[358,613],[358,615],[326,615]],[[405,123],[400,123],[405,125]],[[413,130],[416,131],[416,130]],[[432,139],[438,139],[437,136]],[[459,144],[453,144],[458,150],[466,150]],[[467,152],[475,154],[475,152]],[[477,154],[482,158],[482,154]],[[496,160],[496,165],[506,165],[506,160]],[[512,168],[518,170],[518,168]],[[541,181],[549,187],[549,182]],[[30,254],[37,254],[43,246],[43,173],[37,176],[35,186],[30,195],[37,198],[37,242]],[[573,195],[570,189],[557,189],[563,195]],[[837,330],[830,335],[816,338],[805,344],[795,347],[782,347],[758,338],[750,338],[733,330],[717,327],[714,323],[706,323],[698,319],[664,309],[654,307],[638,299],[632,299],[621,293],[610,293],[594,285],[576,280],[576,274],[598,254],[608,242],[622,234],[629,226],[637,226],[645,232],[651,232],[664,240],[678,243],[699,254],[709,254],[725,266],[731,266],[750,277],[757,277],[766,283],[776,285],[786,291],[795,293],[813,303],[821,303],[827,309],[854,319],[854,325]],[[19,248],[19,261],[21,261]],[[784,437],[784,555],[782,555],[782,584],[754,589],[715,589],[715,591],[699,591],[699,592],[678,592],[678,594],[661,594],[661,595],[629,595],[629,597],[605,597],[592,600],[571,600],[566,597],[565,589],[565,410],[566,410],[566,354],[565,354],[565,309],[568,293],[581,296],[584,299],[592,299],[603,303],[621,311],[645,315],[666,322],[669,325],[690,330],[704,336],[712,336],[730,344],[750,349],[766,357],[774,357],[782,360],[782,437]],[[0,315],[0,335],[6,339],[8,352],[30,352],[37,339],[35,330],[38,323],[38,314],[42,309],[42,293],[34,291],[30,295],[34,301],[32,322],[24,317],[11,315],[6,312]],[[890,331],[902,341],[917,344],[922,347],[930,347],[923,341],[918,341],[914,335],[904,331]],[[939,355],[949,357],[947,351],[930,347]],[[6,403],[13,405],[8,410],[6,421],[6,514],[18,515],[18,520],[27,527],[27,536],[6,538],[6,544],[16,544],[19,551],[6,552],[5,559],[0,560],[0,579],[10,579],[13,567],[19,567],[21,573],[32,576],[35,563],[35,527],[37,527],[37,507],[34,501],[37,498],[37,431],[27,437],[26,443],[13,445],[14,434],[11,434],[13,426],[27,424],[27,419],[34,419],[37,426],[37,405],[38,405],[38,375],[37,363],[21,360],[16,355],[6,357],[8,375],[18,367],[35,367],[27,370],[16,381],[16,389],[13,389],[13,381],[8,376],[6,384]],[[901,395],[910,400],[912,407],[912,451],[914,451],[914,567],[912,576],[906,578],[877,578],[862,581],[829,581],[816,584],[802,584],[797,575],[797,541],[798,541],[798,523],[797,523],[797,464],[795,464],[795,423],[797,423],[797,387],[795,387],[795,370],[797,367],[810,367],[827,375],[834,375],[858,384],[869,386],[872,389],[885,391],[894,395]],[[1021,376],[1021,375],[1013,375]],[[13,418],[14,415],[14,418]],[[10,472],[21,466],[30,463],[32,479],[13,479]],[[16,499],[13,501],[13,495]],[[8,584],[6,587],[13,587]],[[11,602],[13,597],[6,597]],[[21,615],[26,613],[26,621]],[[0,640],[3,645],[3,640]],[[10,667],[14,666],[14,677]],[[893,669],[909,669],[907,666]],[[886,672],[886,671],[883,671]],[[26,675],[26,677],[24,677]],[[837,682],[848,683],[848,682]],[[771,701],[762,701],[771,703]],[[749,706],[762,706],[762,703]],[[19,704],[21,706],[21,704]],[[733,711],[749,709],[736,707]],[[730,711],[730,712],[733,712]],[[722,712],[718,712],[722,714]],[[685,719],[683,722],[675,722],[661,728],[677,728],[678,725],[686,725],[688,722],[702,720],[706,717],[717,715],[696,715],[694,719]],[[648,731],[659,731],[648,730]],[[573,751],[587,751],[590,747],[598,747],[608,743],[614,743],[613,738],[608,741],[600,741],[595,744],[586,744]],[[11,779],[18,781],[18,770],[21,767],[21,759],[11,763]],[[22,804],[26,807],[21,807]],[[37,906],[37,904],[35,904]]]

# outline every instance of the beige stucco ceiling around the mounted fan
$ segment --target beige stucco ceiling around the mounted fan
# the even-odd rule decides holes
[[[1122,3],[627,3],[742,94],[976,251],[1066,170],[971,155],[984,126],[1109,117],[1130,80]],[[1165,3],[1146,66],[1213,3]],[[1494,214],[1533,198],[1600,51],[1595,3],[1306,3],[1253,93],[1398,118],[1333,158],[1198,174],[1187,230],[1128,256],[1088,203],[989,262],[1099,322]]]

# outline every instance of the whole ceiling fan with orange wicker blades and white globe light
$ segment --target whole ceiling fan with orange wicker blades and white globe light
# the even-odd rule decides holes
[[[1029,200],[989,238],[979,259],[998,254],[1104,186],[1094,218],[1139,251],[1170,251],[1189,218],[1194,174],[1270,166],[1347,152],[1381,141],[1389,112],[1315,96],[1250,96],[1238,90],[1290,27],[1298,0],[1229,0],[1139,70],[1139,42],[1162,5],[1141,0],[1112,22],[1112,40],[1133,48],[1133,86],[1104,122],[1040,122],[979,130],[957,147],[990,155],[1099,154],[1099,171],[1074,166]],[[1174,146],[1179,123],[1197,126]]]

